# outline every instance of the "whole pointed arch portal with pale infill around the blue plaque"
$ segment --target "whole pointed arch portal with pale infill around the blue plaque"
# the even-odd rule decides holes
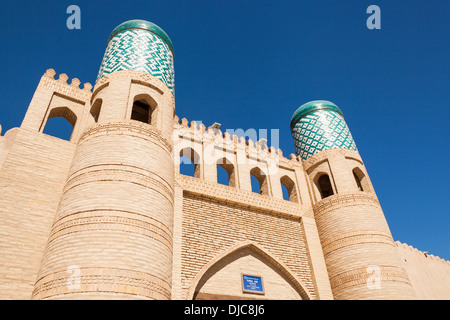
[[[243,276],[261,278],[264,293],[243,290]],[[253,242],[239,243],[207,263],[187,294],[195,300],[310,300],[311,295],[292,271]]]

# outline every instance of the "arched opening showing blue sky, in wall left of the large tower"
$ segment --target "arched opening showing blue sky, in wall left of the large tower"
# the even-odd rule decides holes
[[[77,122],[77,116],[67,107],[53,108],[47,118],[44,130],[45,134],[70,141],[73,129]]]

